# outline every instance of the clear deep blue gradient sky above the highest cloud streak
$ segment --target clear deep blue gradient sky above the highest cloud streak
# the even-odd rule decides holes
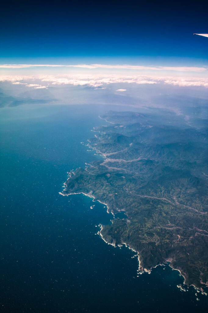
[[[207,8],[201,1],[194,6],[184,1],[4,2],[0,63],[102,59],[104,64],[207,65],[208,39],[193,36],[208,32]]]

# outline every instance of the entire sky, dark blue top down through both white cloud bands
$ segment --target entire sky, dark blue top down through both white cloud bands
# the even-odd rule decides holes
[[[193,35],[208,33],[207,9],[202,1],[4,1],[0,81],[207,88],[208,38]]]

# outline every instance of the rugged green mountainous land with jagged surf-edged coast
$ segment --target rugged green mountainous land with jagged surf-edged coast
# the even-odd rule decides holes
[[[110,111],[89,139],[103,160],[69,173],[63,195],[84,193],[124,211],[101,225],[114,246],[138,253],[140,272],[168,263],[186,285],[208,286],[208,129],[193,118]],[[202,117],[203,118],[203,117]]]

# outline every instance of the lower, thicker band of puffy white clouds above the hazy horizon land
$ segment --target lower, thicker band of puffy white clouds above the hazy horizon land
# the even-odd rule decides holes
[[[104,89],[109,84],[165,84],[180,87],[206,87],[208,88],[208,78],[206,77],[173,77],[173,76],[147,76],[147,75],[39,75],[39,76],[0,76],[0,81],[8,81],[13,85],[22,85],[34,89],[46,89],[54,85],[89,86]],[[116,86],[117,88],[120,86]],[[125,86],[126,88],[126,86]],[[124,91],[122,86],[117,89]]]

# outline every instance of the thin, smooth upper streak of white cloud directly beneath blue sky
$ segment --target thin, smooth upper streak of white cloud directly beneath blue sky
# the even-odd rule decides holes
[[[22,69],[22,68],[35,68],[35,67],[74,67],[85,69],[133,69],[133,70],[157,70],[157,71],[178,71],[178,72],[205,72],[206,67],[194,67],[194,66],[142,66],[142,65],[130,65],[130,64],[0,64],[0,68],[3,69]]]

